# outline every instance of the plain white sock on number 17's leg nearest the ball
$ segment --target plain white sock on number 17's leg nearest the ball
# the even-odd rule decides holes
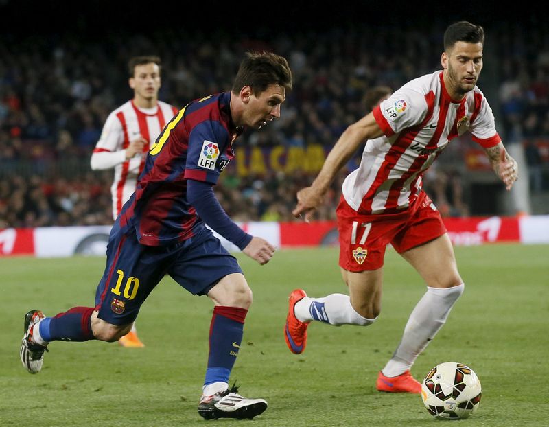
[[[393,358],[382,369],[384,376],[394,377],[412,367],[417,356],[446,322],[450,310],[463,294],[464,288],[465,284],[453,288],[427,287],[427,292],[408,318],[402,340]]]

